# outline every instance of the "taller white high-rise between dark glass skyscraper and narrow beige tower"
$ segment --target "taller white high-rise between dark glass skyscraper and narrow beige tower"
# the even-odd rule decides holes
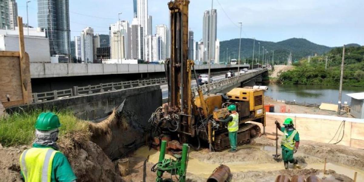
[[[86,27],[81,32],[81,59],[82,63],[94,62],[94,29]]]

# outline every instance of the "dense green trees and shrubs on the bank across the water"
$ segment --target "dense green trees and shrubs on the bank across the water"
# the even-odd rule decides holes
[[[279,80],[285,84],[339,85],[343,48],[333,48],[323,56],[296,63],[294,70],[282,72]],[[325,58],[328,58],[327,70]],[[364,86],[364,46],[345,48],[344,86]]]

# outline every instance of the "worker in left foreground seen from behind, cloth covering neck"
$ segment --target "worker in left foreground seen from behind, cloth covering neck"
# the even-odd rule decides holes
[[[42,112],[35,123],[35,141],[31,149],[20,155],[20,173],[25,182],[75,182],[76,175],[72,171],[66,156],[56,143],[58,116],[52,112]]]

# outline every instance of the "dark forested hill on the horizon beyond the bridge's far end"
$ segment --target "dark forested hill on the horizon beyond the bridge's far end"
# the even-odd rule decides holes
[[[241,60],[247,58],[250,60],[252,59],[253,41],[253,39],[241,39]],[[258,42],[261,44],[260,60],[263,56],[262,47],[264,46],[264,49],[269,51],[270,60],[272,60],[272,50],[274,50],[274,59],[279,62],[286,61],[290,51],[292,51],[293,60],[298,60],[305,56],[314,55],[315,53],[321,55],[332,49],[331,47],[318,45],[300,38],[292,38],[279,42],[255,40],[254,59],[257,58],[259,54]],[[227,48],[230,59],[238,59],[239,39],[231,39],[220,42],[220,60],[226,60]]]

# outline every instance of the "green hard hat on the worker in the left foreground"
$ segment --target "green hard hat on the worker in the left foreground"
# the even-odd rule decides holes
[[[59,118],[53,112],[40,113],[34,125],[37,130],[45,131],[54,130],[55,128],[58,128],[60,126],[61,123],[59,122]]]

